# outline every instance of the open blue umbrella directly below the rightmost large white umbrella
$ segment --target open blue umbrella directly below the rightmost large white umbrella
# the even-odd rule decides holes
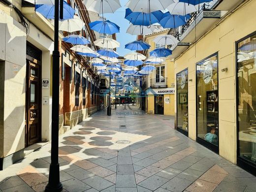
[[[190,15],[171,15],[170,12],[166,12],[163,14],[160,25],[163,28],[172,28],[175,29],[179,26],[185,25],[187,20],[190,18]]]

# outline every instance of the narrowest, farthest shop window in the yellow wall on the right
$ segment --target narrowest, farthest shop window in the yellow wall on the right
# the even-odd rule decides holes
[[[188,135],[188,69],[177,73],[177,130]],[[185,132],[184,132],[185,131]]]

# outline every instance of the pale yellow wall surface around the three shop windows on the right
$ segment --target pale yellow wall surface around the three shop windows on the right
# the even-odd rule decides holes
[[[183,55],[175,59],[175,74],[188,67],[189,80],[192,79],[192,81],[189,81],[188,97],[189,137],[195,140],[195,64],[218,52],[220,155],[234,163],[236,162],[235,41],[256,31],[255,10],[256,0],[244,4],[240,9],[227,16],[212,31],[203,36],[196,45],[191,45]],[[222,72],[221,69],[225,67],[228,68],[227,72]]]

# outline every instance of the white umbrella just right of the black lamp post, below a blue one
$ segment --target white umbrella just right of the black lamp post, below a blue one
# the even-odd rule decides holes
[[[64,21],[60,21],[60,31],[65,32],[77,32],[81,31],[85,23],[80,19],[80,17],[74,15],[73,19],[67,19]]]

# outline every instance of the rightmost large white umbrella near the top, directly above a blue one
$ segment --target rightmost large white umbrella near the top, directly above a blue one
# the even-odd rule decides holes
[[[172,15],[187,15],[192,12],[196,12],[196,6],[188,4],[186,2],[176,2],[167,7],[168,11]]]

